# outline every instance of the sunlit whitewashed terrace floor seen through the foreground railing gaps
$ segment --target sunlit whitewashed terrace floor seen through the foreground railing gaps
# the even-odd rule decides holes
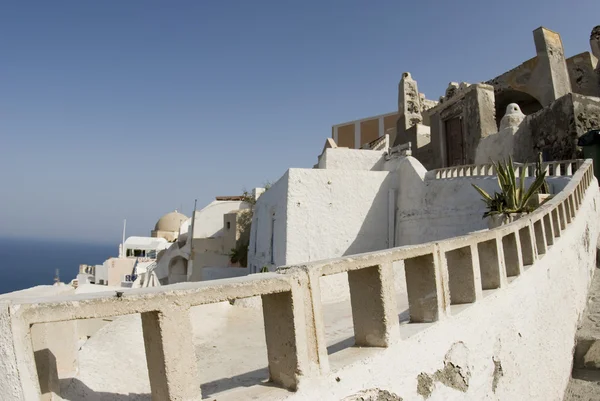
[[[405,292],[398,292],[401,321],[408,320]],[[353,358],[350,301],[323,305],[331,369]],[[204,399],[279,399],[286,390],[267,382],[267,350],[260,298],[195,307],[190,312]],[[412,325],[411,325],[412,326]],[[80,372],[61,378],[64,400],[150,400],[139,315],[103,327],[79,351]],[[243,392],[243,396],[240,392]]]

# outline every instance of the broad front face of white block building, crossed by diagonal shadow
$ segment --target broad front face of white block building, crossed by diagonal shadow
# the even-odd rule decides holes
[[[289,182],[286,264],[388,247],[388,172],[290,169]]]

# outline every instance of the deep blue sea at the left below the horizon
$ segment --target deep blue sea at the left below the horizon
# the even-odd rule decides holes
[[[69,283],[80,264],[102,264],[117,256],[118,244],[0,237],[0,294],[36,285]]]

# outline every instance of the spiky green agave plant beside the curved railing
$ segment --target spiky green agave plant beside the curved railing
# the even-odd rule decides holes
[[[526,169],[521,169],[521,176],[517,183],[512,157],[509,157],[508,163],[505,161],[493,164],[496,169],[501,192],[495,192],[492,196],[477,185],[471,184],[479,192],[487,206],[488,210],[483,214],[483,218],[498,214],[508,215],[511,213],[531,212],[534,207],[528,205],[529,200],[546,183],[546,172],[541,171],[541,169],[539,172],[536,170],[536,177],[533,184],[525,189]]]

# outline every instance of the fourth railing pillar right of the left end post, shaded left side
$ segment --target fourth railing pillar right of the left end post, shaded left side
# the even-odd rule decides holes
[[[404,273],[411,322],[435,322],[448,313],[448,272],[444,271],[438,250],[406,259]]]

